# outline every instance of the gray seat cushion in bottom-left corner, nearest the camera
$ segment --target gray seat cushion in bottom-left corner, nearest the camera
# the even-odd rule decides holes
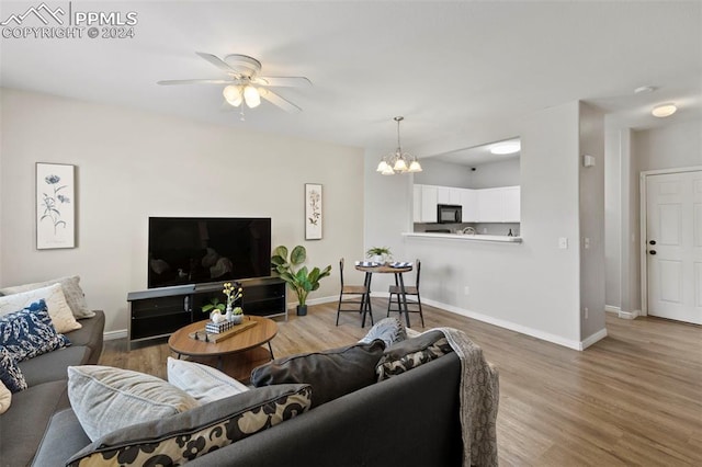
[[[30,465],[52,414],[68,407],[66,379],[13,394],[10,410],[0,415],[2,466]]]

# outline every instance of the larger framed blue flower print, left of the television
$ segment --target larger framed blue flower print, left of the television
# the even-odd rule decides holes
[[[36,163],[36,249],[76,248],[76,166]]]

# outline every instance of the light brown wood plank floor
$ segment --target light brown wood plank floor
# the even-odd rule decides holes
[[[384,300],[373,300],[380,312]],[[336,304],[279,321],[276,356],[355,342],[367,332]],[[500,372],[501,466],[702,466],[702,327],[608,315],[609,335],[577,352],[424,307],[427,329],[465,331]],[[419,317],[412,327],[421,331]],[[166,343],[126,353],[109,341],[101,364],[166,376]]]

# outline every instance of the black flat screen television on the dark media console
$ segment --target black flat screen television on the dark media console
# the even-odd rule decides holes
[[[149,217],[148,287],[271,275],[271,219]]]

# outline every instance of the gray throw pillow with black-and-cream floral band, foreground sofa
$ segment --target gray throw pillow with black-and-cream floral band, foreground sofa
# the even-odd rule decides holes
[[[310,394],[308,385],[253,389],[112,432],[68,465],[182,465],[307,411]]]

